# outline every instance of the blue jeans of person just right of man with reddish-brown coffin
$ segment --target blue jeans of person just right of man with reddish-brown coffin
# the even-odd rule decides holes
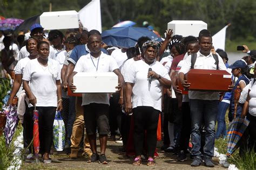
[[[220,135],[223,135],[223,137],[227,135],[225,114],[227,112],[228,107],[230,107],[229,103],[220,101],[217,114],[218,127],[215,134],[215,139],[219,139]]]

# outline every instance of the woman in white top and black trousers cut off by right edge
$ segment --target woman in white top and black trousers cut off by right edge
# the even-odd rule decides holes
[[[254,68],[256,66],[256,62],[254,63]],[[250,120],[250,124],[247,127],[247,130],[250,138],[249,138],[249,149],[254,148],[254,152],[256,152],[256,70],[254,69],[254,79],[250,82],[250,87],[248,90],[248,96],[245,101],[244,107],[242,108],[242,118],[246,118]]]

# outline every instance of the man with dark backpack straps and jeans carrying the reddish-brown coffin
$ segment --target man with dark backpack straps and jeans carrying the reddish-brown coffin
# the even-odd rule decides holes
[[[219,55],[219,63],[215,63],[216,61],[211,53],[212,37],[210,34],[199,36],[199,46],[200,50],[197,52],[197,58],[194,66],[191,64],[192,55],[190,55],[184,61],[184,64],[180,69],[179,79],[185,88],[188,88],[190,84],[184,79],[184,74],[191,69],[191,66],[194,67],[194,69],[216,70],[218,65],[219,70],[226,70],[226,66]],[[194,157],[191,166],[200,166],[202,162],[201,159],[203,157],[204,163],[207,167],[214,167],[212,157],[214,156],[214,128],[218,113],[219,93],[210,91],[189,91],[188,97],[190,98],[191,139],[193,144],[191,154]],[[201,153],[201,135],[199,128],[203,123],[205,124],[206,136],[204,152]]]

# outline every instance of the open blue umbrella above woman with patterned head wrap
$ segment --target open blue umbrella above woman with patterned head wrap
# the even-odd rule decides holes
[[[105,44],[119,47],[133,47],[142,36],[149,37],[158,42],[163,41],[161,37],[158,37],[156,33],[147,28],[130,26],[112,28],[102,32],[102,40]]]

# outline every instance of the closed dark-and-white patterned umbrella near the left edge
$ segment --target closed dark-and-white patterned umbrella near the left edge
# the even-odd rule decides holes
[[[17,107],[9,105],[6,107],[4,112],[7,117],[4,128],[5,144],[6,146],[9,146],[12,141],[12,138],[14,137],[14,133],[18,125]]]

